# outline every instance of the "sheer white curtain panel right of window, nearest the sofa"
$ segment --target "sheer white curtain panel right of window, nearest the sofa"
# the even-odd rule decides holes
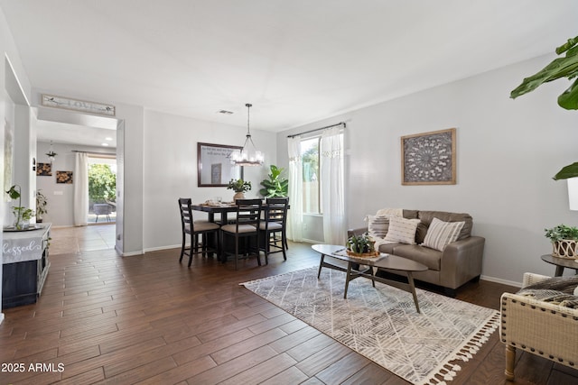
[[[322,133],[321,182],[323,236],[325,243],[345,244],[345,199],[343,197],[343,149],[340,127]]]

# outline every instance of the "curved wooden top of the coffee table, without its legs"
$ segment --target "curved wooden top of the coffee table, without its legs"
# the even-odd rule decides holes
[[[356,258],[345,255],[336,254],[336,252],[343,251],[345,248],[336,244],[313,244],[312,249],[315,252],[320,252],[328,255],[331,258],[336,258],[341,261],[353,261],[362,265],[373,266],[378,269],[400,270],[400,271],[425,271],[427,266],[423,263],[412,261],[407,258],[398,257],[393,254],[382,254],[382,258]],[[383,256],[386,255],[386,256]]]

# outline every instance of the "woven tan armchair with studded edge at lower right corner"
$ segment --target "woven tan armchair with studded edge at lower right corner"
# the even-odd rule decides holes
[[[548,278],[526,273],[522,288]],[[578,308],[504,293],[501,297],[499,334],[501,342],[506,344],[507,380],[514,380],[517,349],[577,368]]]

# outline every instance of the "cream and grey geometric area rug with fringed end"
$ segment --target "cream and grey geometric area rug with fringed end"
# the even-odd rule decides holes
[[[461,370],[499,325],[499,312],[416,289],[410,293],[318,268],[252,280],[247,289],[414,384],[440,385]]]

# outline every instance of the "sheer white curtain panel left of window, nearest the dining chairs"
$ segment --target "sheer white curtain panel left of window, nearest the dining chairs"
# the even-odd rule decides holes
[[[287,211],[287,238],[303,241],[303,164],[301,161],[301,136],[287,139],[289,152],[289,197],[291,209]]]

